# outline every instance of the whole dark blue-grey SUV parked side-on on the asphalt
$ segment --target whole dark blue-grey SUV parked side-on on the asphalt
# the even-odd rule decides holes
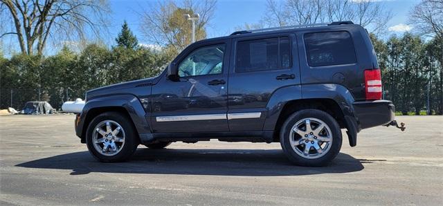
[[[158,77],[87,92],[75,130],[102,162],[138,144],[280,142],[296,165],[325,165],[361,129],[392,123],[368,32],[350,21],[243,30],[188,46]]]

